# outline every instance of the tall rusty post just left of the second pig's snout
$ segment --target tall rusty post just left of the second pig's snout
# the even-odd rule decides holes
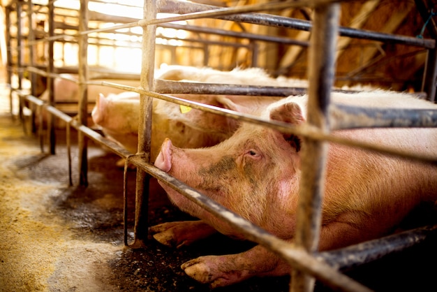
[[[79,31],[88,30],[88,0],[80,0],[79,12]],[[87,126],[88,115],[88,35],[81,34],[79,36],[79,122]],[[77,143],[79,148],[79,184],[81,186],[88,185],[88,138],[82,131],[77,134]]]

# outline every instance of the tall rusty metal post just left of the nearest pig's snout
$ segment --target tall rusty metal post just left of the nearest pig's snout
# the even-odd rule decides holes
[[[156,18],[156,2],[145,0],[144,18],[151,20]],[[155,38],[156,26],[148,25],[142,29],[142,64],[140,85],[145,90],[153,90],[154,66],[155,66]],[[138,124],[138,154],[144,155],[146,161],[150,161],[151,140],[151,112],[153,98],[141,94],[140,118]],[[136,193],[135,193],[135,242],[133,247],[144,247],[147,240],[148,228],[148,204],[149,204],[149,179],[145,171],[137,169]]]

